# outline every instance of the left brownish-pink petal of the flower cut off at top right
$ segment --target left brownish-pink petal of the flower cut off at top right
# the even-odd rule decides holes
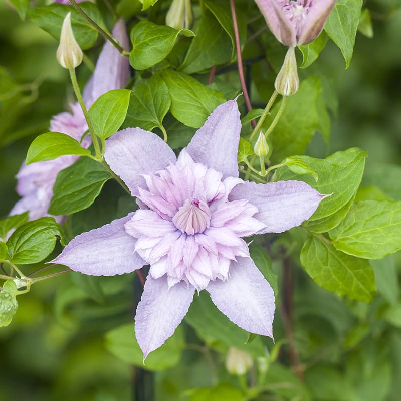
[[[293,24],[281,11],[277,0],[255,0],[260,12],[265,17],[266,24],[272,34],[282,44],[287,46],[296,45],[296,35]]]

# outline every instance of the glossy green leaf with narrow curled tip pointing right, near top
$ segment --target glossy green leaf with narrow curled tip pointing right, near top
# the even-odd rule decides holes
[[[156,25],[144,20],[131,30],[133,49],[129,63],[135,70],[145,70],[164,60],[174,47],[178,34],[194,36],[188,29],[179,31],[166,25]]]

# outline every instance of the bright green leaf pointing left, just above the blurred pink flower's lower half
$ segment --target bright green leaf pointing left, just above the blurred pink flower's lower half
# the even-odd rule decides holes
[[[83,148],[70,135],[62,134],[61,132],[47,132],[37,136],[31,143],[27,153],[26,164],[54,160],[65,154],[89,156],[91,152],[89,149]]]

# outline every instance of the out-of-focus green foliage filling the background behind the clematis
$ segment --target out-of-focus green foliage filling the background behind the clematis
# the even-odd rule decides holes
[[[118,2],[110,3],[117,6]],[[169,2],[159,3],[151,13],[153,20],[163,23]],[[236,3],[247,16],[258,16],[255,5],[250,5],[253,2]],[[108,4],[98,2],[104,16]],[[124,5],[124,0],[119,2],[122,14]],[[401,3],[367,0],[364,6],[371,12],[374,35],[357,34],[349,68],[345,69],[339,49],[329,41],[319,59],[300,70],[301,80],[310,75],[322,79],[331,117],[329,141],[315,135],[306,153],[325,157],[358,146],[368,152],[368,159],[357,196],[401,200]],[[108,23],[107,17],[105,21]],[[263,24],[261,18],[249,22],[248,39]],[[228,37],[225,40],[230,43]],[[261,48],[265,43],[272,45]],[[178,43],[178,50],[169,56],[170,62],[174,57],[179,59],[180,47],[185,46],[185,40]],[[101,47],[99,40],[87,51],[92,61]],[[0,216],[6,216],[18,199],[15,175],[30,142],[47,131],[51,116],[66,110],[73,101],[68,73],[56,62],[56,48],[57,42],[49,34],[28,18],[21,21],[10,4],[0,2]],[[273,70],[280,67],[284,53],[268,30],[245,45],[244,64],[254,107],[264,107],[269,99]],[[229,96],[238,93],[239,83],[236,63],[230,62],[230,54],[226,56],[227,63],[217,70],[216,80]],[[300,64],[300,52],[298,56]],[[82,66],[78,74],[80,82],[85,82],[90,69]],[[197,78],[205,82],[208,74]],[[244,109],[242,112],[245,115]],[[177,129],[171,134],[171,145],[184,146],[192,133],[191,129]],[[100,226],[124,216],[130,208],[130,199],[116,184],[108,182],[95,204],[71,217],[67,227],[71,235],[77,234],[93,228],[93,217]],[[174,336],[142,366],[132,325],[141,290],[137,279],[132,274],[89,278],[71,273],[35,285],[29,294],[19,297],[20,308],[12,324],[0,330],[0,399],[242,400],[245,377],[230,374],[225,367],[229,347],[235,346],[253,358],[248,382],[261,384],[265,390],[255,394],[254,399],[398,401],[399,252],[372,262],[374,270],[380,271],[376,277],[378,296],[366,304],[340,298],[307,276],[299,266],[299,258],[298,262],[293,258],[299,256],[304,242],[296,229],[280,241],[274,241],[274,235],[269,240],[272,256],[285,252],[284,261],[294,262],[290,273],[292,296],[285,294],[281,266],[273,262],[281,304],[274,324],[275,345],[259,337],[244,344],[246,333],[232,325],[202,294]],[[261,263],[270,264],[270,260]],[[291,311],[290,337],[288,322],[280,313],[283,307]],[[299,353],[301,379],[292,366],[289,342]]]

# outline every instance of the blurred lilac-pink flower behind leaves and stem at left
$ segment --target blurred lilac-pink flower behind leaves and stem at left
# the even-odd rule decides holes
[[[128,37],[122,20],[118,21],[113,29],[113,35],[125,47],[128,46]],[[83,93],[86,107],[103,93],[123,88],[128,81],[129,61],[121,56],[109,42],[104,45],[95,71],[89,79]],[[79,103],[71,105],[71,113],[57,114],[50,121],[50,131],[62,132],[80,141],[88,126]],[[91,144],[90,136],[87,136],[82,145],[88,147]],[[29,211],[29,219],[35,220],[48,215],[50,200],[53,196],[53,185],[60,170],[70,166],[77,156],[61,156],[55,160],[40,161],[38,163],[23,164],[17,174],[17,192],[20,199],[11,215],[18,215]],[[58,222],[64,220],[64,216],[55,216]]]

